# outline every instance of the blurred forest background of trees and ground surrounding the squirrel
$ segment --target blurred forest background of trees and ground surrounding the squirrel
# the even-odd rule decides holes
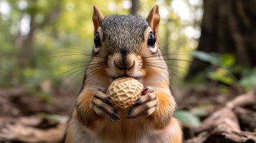
[[[155,4],[185,140],[228,101],[253,91],[255,0],[0,0],[0,142],[60,140],[90,60],[93,5],[105,16],[146,17]],[[255,103],[245,109],[256,115]],[[240,121],[241,130],[255,132]],[[25,129],[37,134],[24,138]],[[49,130],[51,138],[38,137]]]

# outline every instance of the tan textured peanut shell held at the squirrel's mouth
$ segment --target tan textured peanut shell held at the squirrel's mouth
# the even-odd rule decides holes
[[[143,85],[136,79],[123,77],[113,81],[106,91],[114,107],[119,110],[127,109],[141,96]]]

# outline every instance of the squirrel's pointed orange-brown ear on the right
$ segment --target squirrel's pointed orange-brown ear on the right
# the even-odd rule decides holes
[[[155,5],[150,13],[148,14],[147,21],[150,24],[150,28],[152,28],[154,34],[158,34],[158,26],[160,22],[160,14],[158,5]]]

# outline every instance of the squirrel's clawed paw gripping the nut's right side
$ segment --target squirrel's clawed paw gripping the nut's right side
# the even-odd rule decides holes
[[[144,87],[142,96],[139,97],[135,104],[128,112],[128,119],[135,119],[141,115],[151,115],[158,108],[158,97],[153,87]]]

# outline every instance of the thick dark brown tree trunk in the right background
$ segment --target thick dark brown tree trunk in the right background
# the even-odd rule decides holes
[[[256,66],[256,0],[203,0],[198,51],[229,53],[243,68]],[[189,75],[206,68],[194,59]],[[201,62],[201,61],[200,61]]]

